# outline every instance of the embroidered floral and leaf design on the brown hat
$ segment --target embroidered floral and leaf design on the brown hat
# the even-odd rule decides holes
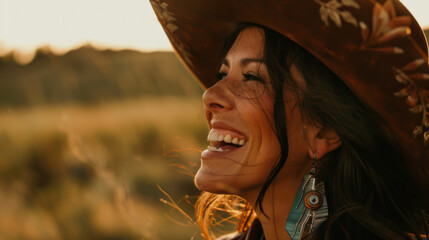
[[[350,12],[341,12],[338,8],[349,6],[359,9],[359,5],[354,0],[330,0],[329,2],[321,2],[314,0],[320,4],[320,17],[322,21],[329,26],[331,19],[338,27],[342,27],[341,17],[353,25],[357,25],[357,20]],[[329,18],[329,19],[328,19]],[[418,81],[429,81],[429,63],[427,55],[418,46],[414,39],[406,38],[411,34],[412,19],[410,16],[396,16],[396,10],[391,0],[387,0],[383,5],[374,3],[372,12],[372,27],[369,30],[366,23],[359,21],[359,27],[362,36],[361,51],[375,51],[386,54],[403,54],[404,49],[399,46],[392,45],[394,40],[408,39],[420,53],[421,58],[414,59],[402,68],[394,67],[395,79],[399,83],[405,85],[401,90],[394,93],[396,97],[405,97],[405,103],[409,110],[415,114],[422,115],[422,121],[413,130],[413,136],[423,134],[425,144],[429,143],[429,90],[426,90],[418,85]],[[422,67],[426,67],[424,71],[419,71]],[[417,82],[416,82],[417,81]]]

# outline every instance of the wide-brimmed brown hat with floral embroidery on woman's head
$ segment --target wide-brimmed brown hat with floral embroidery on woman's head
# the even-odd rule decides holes
[[[204,88],[241,22],[292,39],[387,121],[429,192],[429,65],[425,35],[398,0],[150,0],[174,49]]]

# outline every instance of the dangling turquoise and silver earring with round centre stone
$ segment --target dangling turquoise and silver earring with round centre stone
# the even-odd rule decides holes
[[[314,153],[311,169],[301,182],[286,221],[286,231],[292,240],[299,240],[311,234],[328,218],[325,185],[323,181],[318,181],[318,173]]]

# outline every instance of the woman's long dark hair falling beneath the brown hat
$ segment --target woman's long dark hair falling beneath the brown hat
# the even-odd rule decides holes
[[[410,239],[412,233],[427,232],[416,200],[419,191],[406,170],[404,157],[397,150],[383,119],[362,103],[339,77],[316,57],[289,38],[263,26],[239,24],[224,44],[224,55],[239,33],[247,27],[260,27],[265,33],[264,60],[275,91],[275,131],[281,146],[277,163],[267,177],[257,198],[262,213],[265,193],[288,157],[285,125],[284,88],[296,94],[303,119],[332,128],[342,145],[320,159],[321,178],[325,182],[329,218],[311,239]],[[295,65],[305,79],[305,87],[292,78]],[[200,216],[210,204],[199,201]],[[201,207],[206,206],[206,208]],[[245,230],[254,214],[240,219]],[[244,219],[243,219],[244,218]],[[200,223],[201,225],[201,223]]]

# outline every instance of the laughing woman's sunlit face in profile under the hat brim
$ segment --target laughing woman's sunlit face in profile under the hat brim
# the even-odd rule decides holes
[[[219,81],[204,93],[210,132],[195,179],[201,190],[237,195],[259,192],[280,156],[274,91],[263,59],[263,30],[246,28],[223,60]],[[288,95],[285,124],[290,150],[283,168],[303,163],[307,151],[298,108]]]

